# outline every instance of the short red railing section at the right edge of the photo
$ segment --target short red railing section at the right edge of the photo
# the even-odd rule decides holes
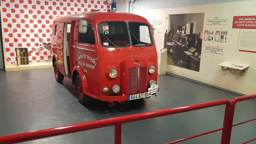
[[[254,99],[254,98],[256,98],[256,94],[255,95],[245,95],[245,96],[241,96],[241,97],[236,97],[236,98],[233,98],[233,100],[231,101],[230,119],[229,119],[229,122],[228,122],[228,130],[227,130],[227,134],[228,134],[227,135],[227,144],[230,144],[232,127],[235,127],[237,125],[244,124],[244,123],[256,120],[256,118],[253,118],[251,120],[244,121],[244,122],[233,125],[236,103],[239,102],[239,101],[246,101],[246,100],[250,100],[250,99]],[[254,141],[254,140],[256,140],[256,138],[253,138],[253,139],[251,139],[249,141],[246,141],[242,144],[246,144],[246,143],[248,143],[250,141]]]

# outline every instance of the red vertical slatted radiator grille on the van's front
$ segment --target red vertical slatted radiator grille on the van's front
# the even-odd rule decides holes
[[[129,68],[128,69],[128,93],[137,93],[137,91],[147,90],[147,79],[148,79],[148,67],[140,67],[140,80],[138,87],[138,69]]]

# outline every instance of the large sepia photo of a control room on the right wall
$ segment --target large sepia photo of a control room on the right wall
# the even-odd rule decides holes
[[[164,35],[167,64],[199,72],[204,13],[170,14]]]

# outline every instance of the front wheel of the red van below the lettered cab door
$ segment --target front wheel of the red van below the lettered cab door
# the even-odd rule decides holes
[[[82,92],[82,81],[79,75],[76,75],[76,81],[75,81],[75,85],[76,85],[76,96],[78,98],[78,101],[80,104],[88,104],[90,103],[93,98],[91,98],[88,95],[83,94]]]

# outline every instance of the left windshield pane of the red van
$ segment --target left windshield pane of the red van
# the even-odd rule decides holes
[[[98,29],[99,29],[100,42],[102,46],[104,47],[130,46],[127,24],[125,22],[103,22],[99,24]]]

